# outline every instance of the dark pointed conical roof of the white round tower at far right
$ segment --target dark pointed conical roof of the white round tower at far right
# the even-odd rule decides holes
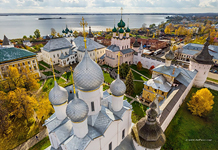
[[[200,64],[214,64],[213,56],[211,56],[208,51],[209,40],[210,40],[210,35],[207,38],[206,42],[204,43],[202,50],[194,54],[193,58],[191,58],[192,61],[195,61]]]

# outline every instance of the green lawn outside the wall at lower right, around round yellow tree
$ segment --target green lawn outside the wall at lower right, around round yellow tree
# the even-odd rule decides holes
[[[214,95],[212,112],[206,117],[193,116],[188,110],[187,102],[192,93],[198,89],[192,88],[175,117],[165,131],[166,143],[163,150],[216,150],[218,147],[218,92],[210,90]],[[212,140],[212,141],[189,141]]]

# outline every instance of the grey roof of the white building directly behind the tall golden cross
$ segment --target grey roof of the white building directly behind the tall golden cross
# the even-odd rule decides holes
[[[84,37],[79,36],[79,37],[75,38],[73,41],[74,41],[76,47],[78,47],[78,51],[85,52]],[[94,40],[89,39],[89,38],[86,39],[86,46],[87,46],[88,51],[93,51],[95,49],[100,49],[100,48],[105,47],[105,46],[99,44],[98,42],[95,42]]]

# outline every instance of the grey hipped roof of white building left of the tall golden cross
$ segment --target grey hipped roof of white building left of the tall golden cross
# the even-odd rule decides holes
[[[65,38],[57,38],[51,39],[48,43],[43,47],[43,50],[50,52],[61,49],[71,48],[72,44]]]

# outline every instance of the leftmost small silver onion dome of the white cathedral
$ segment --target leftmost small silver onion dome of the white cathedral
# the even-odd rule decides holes
[[[59,86],[56,81],[54,83],[54,87],[49,92],[49,101],[52,105],[64,104],[68,100],[68,92],[65,88]]]

